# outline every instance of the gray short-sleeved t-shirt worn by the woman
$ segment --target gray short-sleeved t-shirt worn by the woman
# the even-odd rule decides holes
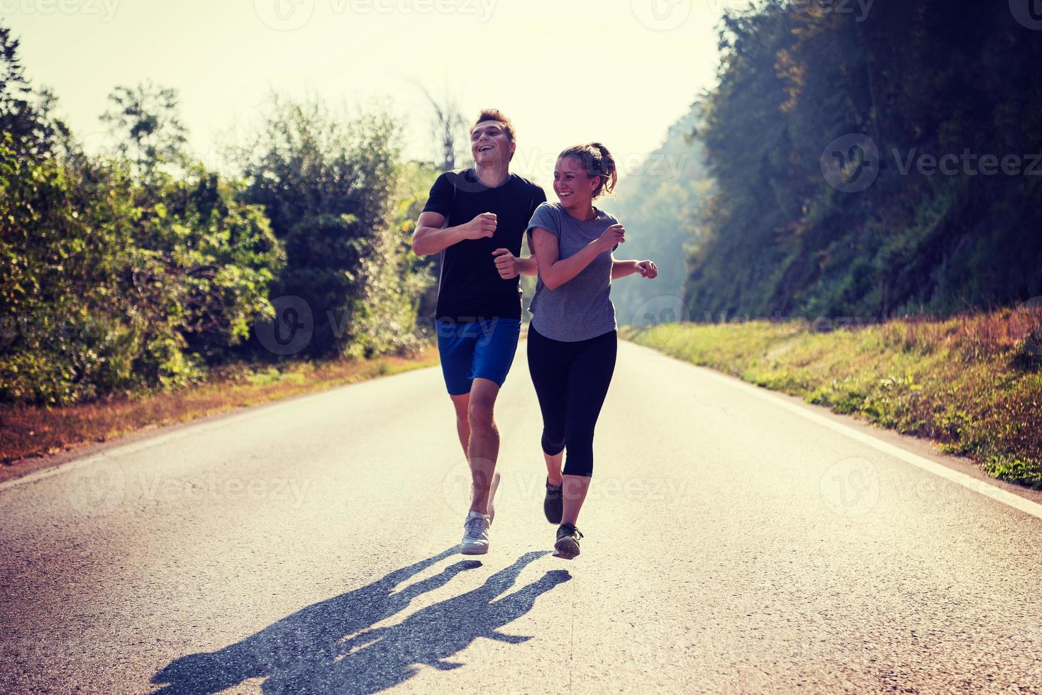
[[[561,203],[545,202],[536,208],[528,222],[528,247],[531,248],[531,230],[542,227],[557,238],[561,259],[581,251],[619,221],[594,207],[597,217],[576,220],[565,212]],[[612,251],[604,251],[584,268],[578,275],[550,290],[543,278],[536,280],[536,294],[528,311],[531,325],[541,334],[555,341],[575,343],[615,330],[615,306],[609,298],[612,291]]]

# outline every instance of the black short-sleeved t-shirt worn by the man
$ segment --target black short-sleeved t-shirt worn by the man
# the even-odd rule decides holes
[[[496,271],[496,249],[521,255],[521,238],[539,204],[543,189],[511,174],[494,189],[481,183],[473,169],[447,171],[430,187],[424,213],[444,215],[446,226],[470,222],[481,213],[496,215],[496,232],[482,239],[465,239],[445,249],[438,284],[436,318],[444,321],[480,321],[521,318],[520,278],[504,280]]]

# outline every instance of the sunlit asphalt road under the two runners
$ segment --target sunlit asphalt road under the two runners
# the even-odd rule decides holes
[[[571,562],[524,344],[478,559],[437,368],[108,449],[0,489],[0,692],[1042,692],[1042,507],[801,411],[620,345]]]

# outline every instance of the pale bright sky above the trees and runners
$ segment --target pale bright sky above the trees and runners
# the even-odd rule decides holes
[[[715,82],[730,0],[0,0],[26,75],[86,141],[117,85],[175,88],[193,149],[253,122],[270,90],[370,105],[407,123],[407,156],[433,158],[416,83],[465,116],[501,108],[514,170],[549,183],[565,147],[601,141],[628,163]],[[465,164],[465,163],[464,163]]]

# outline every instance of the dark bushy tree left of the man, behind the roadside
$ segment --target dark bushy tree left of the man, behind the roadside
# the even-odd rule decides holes
[[[264,206],[287,252],[274,296],[315,318],[304,354],[344,354],[356,336],[363,263],[376,254],[397,190],[400,126],[384,114],[336,114],[317,99],[271,97],[241,152],[243,200]]]

